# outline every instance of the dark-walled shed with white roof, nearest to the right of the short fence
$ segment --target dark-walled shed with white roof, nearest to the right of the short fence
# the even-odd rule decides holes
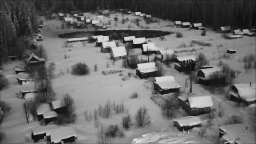
[[[158,71],[155,62],[138,63],[136,69],[136,75],[140,78],[155,77]]]

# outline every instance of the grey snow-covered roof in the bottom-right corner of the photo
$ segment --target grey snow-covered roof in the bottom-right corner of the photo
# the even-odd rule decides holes
[[[235,143],[256,143],[255,140],[255,133],[250,132],[250,127],[248,127],[247,132],[245,132],[246,124],[230,124],[230,125],[223,125],[220,126],[220,129],[226,132],[223,135],[223,139],[227,141],[233,141]]]

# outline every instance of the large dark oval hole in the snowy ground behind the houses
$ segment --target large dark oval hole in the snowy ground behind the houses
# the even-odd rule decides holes
[[[131,29],[111,29],[111,30],[95,30],[95,31],[71,31],[69,33],[59,34],[61,38],[77,38],[77,37],[90,37],[91,35],[109,36],[109,39],[123,39],[125,36],[154,38],[159,36],[166,36],[173,34],[172,31],[162,30],[131,30]]]

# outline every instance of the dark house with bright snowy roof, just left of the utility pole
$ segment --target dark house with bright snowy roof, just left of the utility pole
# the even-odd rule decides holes
[[[155,77],[154,90],[161,94],[179,92],[182,86],[175,81],[174,76]]]

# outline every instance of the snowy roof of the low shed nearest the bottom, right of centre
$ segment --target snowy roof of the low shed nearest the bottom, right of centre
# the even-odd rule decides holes
[[[181,127],[194,126],[202,123],[201,119],[197,116],[181,117],[181,118],[173,119],[173,121],[177,122]]]

